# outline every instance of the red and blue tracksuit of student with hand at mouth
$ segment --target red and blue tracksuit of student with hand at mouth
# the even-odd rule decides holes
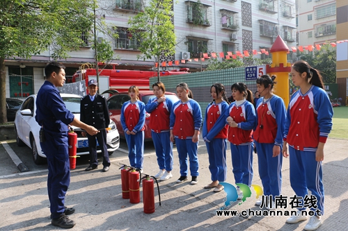
[[[169,130],[169,120],[173,103],[166,99],[161,103],[158,98],[152,98],[145,105],[146,112],[150,113],[151,136],[155,145],[157,164],[159,169],[172,171],[173,169],[173,143],[171,142],[171,132]]]

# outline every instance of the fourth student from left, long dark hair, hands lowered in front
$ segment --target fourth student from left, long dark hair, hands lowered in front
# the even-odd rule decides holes
[[[223,190],[219,182],[226,181],[226,146],[228,125],[226,110],[228,110],[228,99],[225,95],[225,87],[221,83],[214,83],[210,87],[213,101],[205,110],[205,121],[203,123],[203,140],[207,146],[209,157],[209,170],[212,182],[205,189],[215,188],[214,192]]]

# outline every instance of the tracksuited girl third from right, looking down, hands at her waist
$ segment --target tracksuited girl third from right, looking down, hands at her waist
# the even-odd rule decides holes
[[[231,103],[226,111],[228,141],[231,143],[232,168],[235,182],[251,186],[253,180],[253,128],[256,116],[253,105],[253,92],[244,83],[235,83],[231,86],[235,102]],[[238,199],[243,193],[237,187]]]

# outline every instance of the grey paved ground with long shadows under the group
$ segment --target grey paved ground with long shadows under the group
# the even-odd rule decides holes
[[[325,214],[318,230],[347,230],[348,209],[348,142],[329,139],[325,146],[324,187]],[[210,182],[209,163],[205,144],[200,141],[200,176],[198,185],[189,181],[176,184],[179,178],[177,152],[174,152],[174,177],[160,182],[161,206],[156,196],[156,211],[143,213],[143,203],[131,204],[122,199],[119,163],[127,163],[127,155],[116,151],[110,171],[85,172],[87,164],[72,171],[66,205],[74,206],[76,212],[70,218],[77,225],[71,230],[303,230],[306,221],[286,224],[286,216],[216,216],[216,209],[223,206],[226,193],[214,193],[203,189]],[[6,159],[6,151],[0,146],[0,160]],[[253,155],[253,184],[261,185],[258,176],[257,155]],[[3,162],[2,162],[3,164]],[[1,165],[0,164],[0,167]],[[9,164],[6,162],[6,164]],[[155,175],[158,171],[156,156],[144,157],[144,171]],[[0,171],[3,173],[3,171]],[[0,176],[0,230],[62,230],[50,224],[47,198],[47,171]],[[233,183],[230,151],[228,151],[228,180]],[[230,209],[258,210],[255,207],[255,192],[241,205]],[[157,190],[155,191],[157,195]],[[293,196],[289,182],[289,161],[283,162],[283,195]],[[288,208],[289,209],[289,208]],[[283,210],[283,209],[280,209]],[[291,209],[290,209],[291,210]]]

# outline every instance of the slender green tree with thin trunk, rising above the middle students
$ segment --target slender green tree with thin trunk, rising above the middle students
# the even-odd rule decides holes
[[[173,18],[173,0],[151,0],[145,6],[144,12],[129,19],[128,24],[132,33],[139,34],[139,58],[156,58],[159,62],[160,55],[173,55],[175,53],[175,33]],[[159,65],[157,68],[159,78]]]

